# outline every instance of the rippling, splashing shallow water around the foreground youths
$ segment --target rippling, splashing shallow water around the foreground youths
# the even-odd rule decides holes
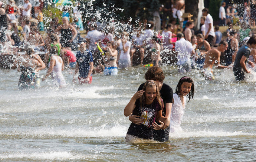
[[[91,85],[56,89],[50,78],[19,91],[17,70],[0,70],[0,161],[255,161],[256,83],[235,82],[232,70],[205,81],[191,72],[194,99],[186,106],[183,132],[168,142],[125,143],[131,123],[124,107],[145,81],[147,68],[93,75]],[[183,75],[163,67],[175,89]],[[41,75],[46,70],[42,70]]]

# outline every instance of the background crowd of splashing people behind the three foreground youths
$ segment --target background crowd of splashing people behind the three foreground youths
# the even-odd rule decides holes
[[[202,10],[199,30],[193,20],[182,21],[179,15],[184,12],[183,0],[176,1],[169,9],[161,7],[165,14],[173,12],[174,19],[168,22],[166,19],[157,22],[160,19],[156,19],[156,13],[154,21],[138,19],[137,24],[101,23],[95,18],[88,22],[85,37],[79,32],[81,26],[70,23],[66,10],[61,21],[54,17],[45,28],[42,11],[34,7],[38,19],[33,19],[32,7],[29,0],[24,0],[23,7],[10,0],[5,8],[0,1],[1,52],[15,56],[13,67],[22,72],[20,89],[36,86],[36,80],[40,79],[38,71],[46,67],[42,80],[51,75],[59,87],[66,85],[62,70],[67,68],[75,71],[73,82],[79,73],[81,84],[91,83],[93,73],[118,75],[118,69],[141,65],[177,65],[180,73],[199,69],[207,80],[214,79],[213,65],[220,69],[233,67],[236,80],[243,80],[244,72],[255,70],[256,38],[245,20],[239,31],[230,22],[227,38],[223,39],[219,26],[213,26],[208,9]],[[74,10],[79,14],[77,7]],[[220,13],[221,20],[223,17],[224,13]],[[41,30],[46,30],[46,35]]]

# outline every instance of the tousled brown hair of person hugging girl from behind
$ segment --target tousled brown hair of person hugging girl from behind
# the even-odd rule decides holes
[[[160,83],[164,82],[164,72],[160,67],[153,66],[145,73],[146,80],[158,80]]]

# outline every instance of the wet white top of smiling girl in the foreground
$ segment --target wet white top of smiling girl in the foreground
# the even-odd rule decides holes
[[[173,100],[174,100],[174,103],[171,108],[171,118],[170,118],[170,133],[173,133],[177,130],[182,130],[180,125],[184,115],[186,96],[183,96],[184,108],[182,106],[180,97],[176,93],[173,93]]]

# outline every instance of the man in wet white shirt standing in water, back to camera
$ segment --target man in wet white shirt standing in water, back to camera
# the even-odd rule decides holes
[[[177,42],[175,43],[175,51],[177,53],[177,65],[180,73],[187,73],[191,70],[190,57],[194,55],[195,51],[190,42],[184,39],[183,33],[177,34]]]

